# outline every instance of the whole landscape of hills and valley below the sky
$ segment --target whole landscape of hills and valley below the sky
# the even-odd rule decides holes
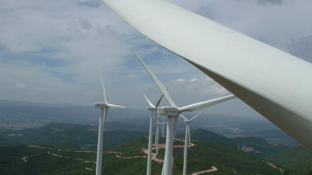
[[[0,174],[95,174],[99,116],[94,107],[0,108]],[[103,172],[145,174],[148,112],[112,110],[110,115],[115,117],[109,117],[104,126]],[[193,114],[185,116],[188,115]],[[312,172],[311,151],[266,123],[259,118],[220,115],[202,115],[194,120],[187,173]],[[185,124],[181,120],[174,142],[173,174],[183,171],[184,137]],[[152,149],[152,174],[161,173],[165,139],[159,137],[158,155],[155,146]]]

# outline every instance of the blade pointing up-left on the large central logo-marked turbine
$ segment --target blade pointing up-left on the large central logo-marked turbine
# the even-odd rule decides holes
[[[134,50],[131,49],[131,51],[133,52],[133,54],[139,59],[139,61],[141,62],[141,64],[144,66],[144,68],[146,69],[146,71],[149,73],[149,75],[153,78],[154,82],[156,83],[156,85],[158,86],[159,90],[161,91],[161,93],[163,94],[163,96],[165,96],[167,102],[171,105],[171,106],[177,106],[173,100],[171,99],[168,91],[166,90],[166,87],[163,86],[163,84],[158,80],[158,78],[154,75],[154,73],[149,69],[149,67],[147,67],[147,65],[143,62],[143,60],[139,57],[139,55],[137,55]]]

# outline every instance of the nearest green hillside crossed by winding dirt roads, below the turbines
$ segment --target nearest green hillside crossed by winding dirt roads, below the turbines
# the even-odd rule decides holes
[[[164,142],[165,138],[161,138]],[[217,167],[213,174],[280,174],[280,172],[241,150],[222,143],[195,141],[197,146],[188,151],[188,173],[199,172]],[[175,141],[175,145],[183,145]],[[20,146],[0,146],[0,174],[95,174],[96,150],[84,150],[64,142],[41,145],[46,148]],[[48,149],[50,148],[50,149]],[[103,148],[104,174],[146,174],[147,158],[142,149],[148,148],[146,136],[124,144]],[[84,152],[85,151],[85,152]],[[118,152],[118,153],[115,153]],[[159,150],[163,157],[164,149]],[[120,153],[120,154],[119,154]],[[183,148],[174,150],[173,174],[183,171]],[[27,157],[28,156],[28,157]],[[63,156],[63,157],[61,157]],[[120,156],[122,158],[118,158]],[[26,157],[25,160],[22,158]],[[152,174],[160,174],[162,163],[152,162]]]

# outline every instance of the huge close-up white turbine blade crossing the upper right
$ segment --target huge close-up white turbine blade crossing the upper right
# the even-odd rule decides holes
[[[312,150],[311,63],[168,1],[103,1]]]

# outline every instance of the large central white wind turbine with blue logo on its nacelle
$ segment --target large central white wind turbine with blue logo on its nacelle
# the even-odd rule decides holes
[[[143,62],[143,60],[131,49],[134,55],[139,59],[141,64],[147,70],[149,75],[153,78],[154,82],[158,86],[159,90],[162,92],[163,96],[166,98],[167,102],[170,106],[160,106],[157,108],[158,114],[168,116],[167,120],[167,136],[166,136],[166,149],[165,149],[165,158],[163,163],[163,172],[162,174],[171,175],[172,174],[172,165],[173,165],[173,135],[175,128],[178,122],[178,116],[182,112],[192,112],[199,111],[205,109],[207,107],[216,105],[218,103],[230,100],[235,98],[234,95],[228,95],[226,97],[220,97],[213,100],[208,100],[205,102],[199,102],[195,104],[191,104],[188,106],[178,107],[173,100],[171,99],[168,91],[163,86],[163,84],[158,80],[158,78],[154,75],[154,73],[147,67],[147,65]]]

